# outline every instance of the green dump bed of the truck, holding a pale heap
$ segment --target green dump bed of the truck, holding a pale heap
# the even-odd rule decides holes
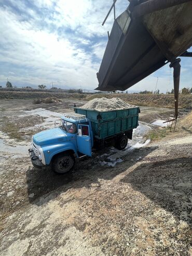
[[[140,108],[137,106],[102,112],[79,107],[74,107],[74,110],[75,113],[86,115],[91,120],[93,136],[97,139],[105,139],[138,127]]]

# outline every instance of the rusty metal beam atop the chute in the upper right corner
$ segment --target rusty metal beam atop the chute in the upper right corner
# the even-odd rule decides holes
[[[131,11],[132,18],[140,17],[151,12],[166,9],[175,5],[190,2],[191,0],[149,0],[136,5]]]

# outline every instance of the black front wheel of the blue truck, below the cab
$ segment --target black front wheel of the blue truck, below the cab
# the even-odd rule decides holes
[[[56,156],[53,160],[53,171],[59,174],[70,172],[75,164],[75,158],[69,153]]]

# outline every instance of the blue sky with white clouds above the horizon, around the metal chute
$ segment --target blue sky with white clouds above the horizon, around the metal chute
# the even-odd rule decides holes
[[[0,0],[0,85],[93,90],[113,25],[111,7],[103,0]],[[116,16],[128,6],[118,0]],[[192,48],[191,48],[192,50]],[[191,87],[192,59],[182,58],[181,88]],[[143,79],[128,91],[171,91],[169,65]]]

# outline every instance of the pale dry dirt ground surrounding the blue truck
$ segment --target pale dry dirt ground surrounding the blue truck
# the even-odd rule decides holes
[[[192,115],[161,140],[135,133],[122,152],[94,151],[71,174],[35,169],[32,134],[84,102],[1,100],[0,255],[192,255]],[[171,115],[141,107],[139,132]]]

